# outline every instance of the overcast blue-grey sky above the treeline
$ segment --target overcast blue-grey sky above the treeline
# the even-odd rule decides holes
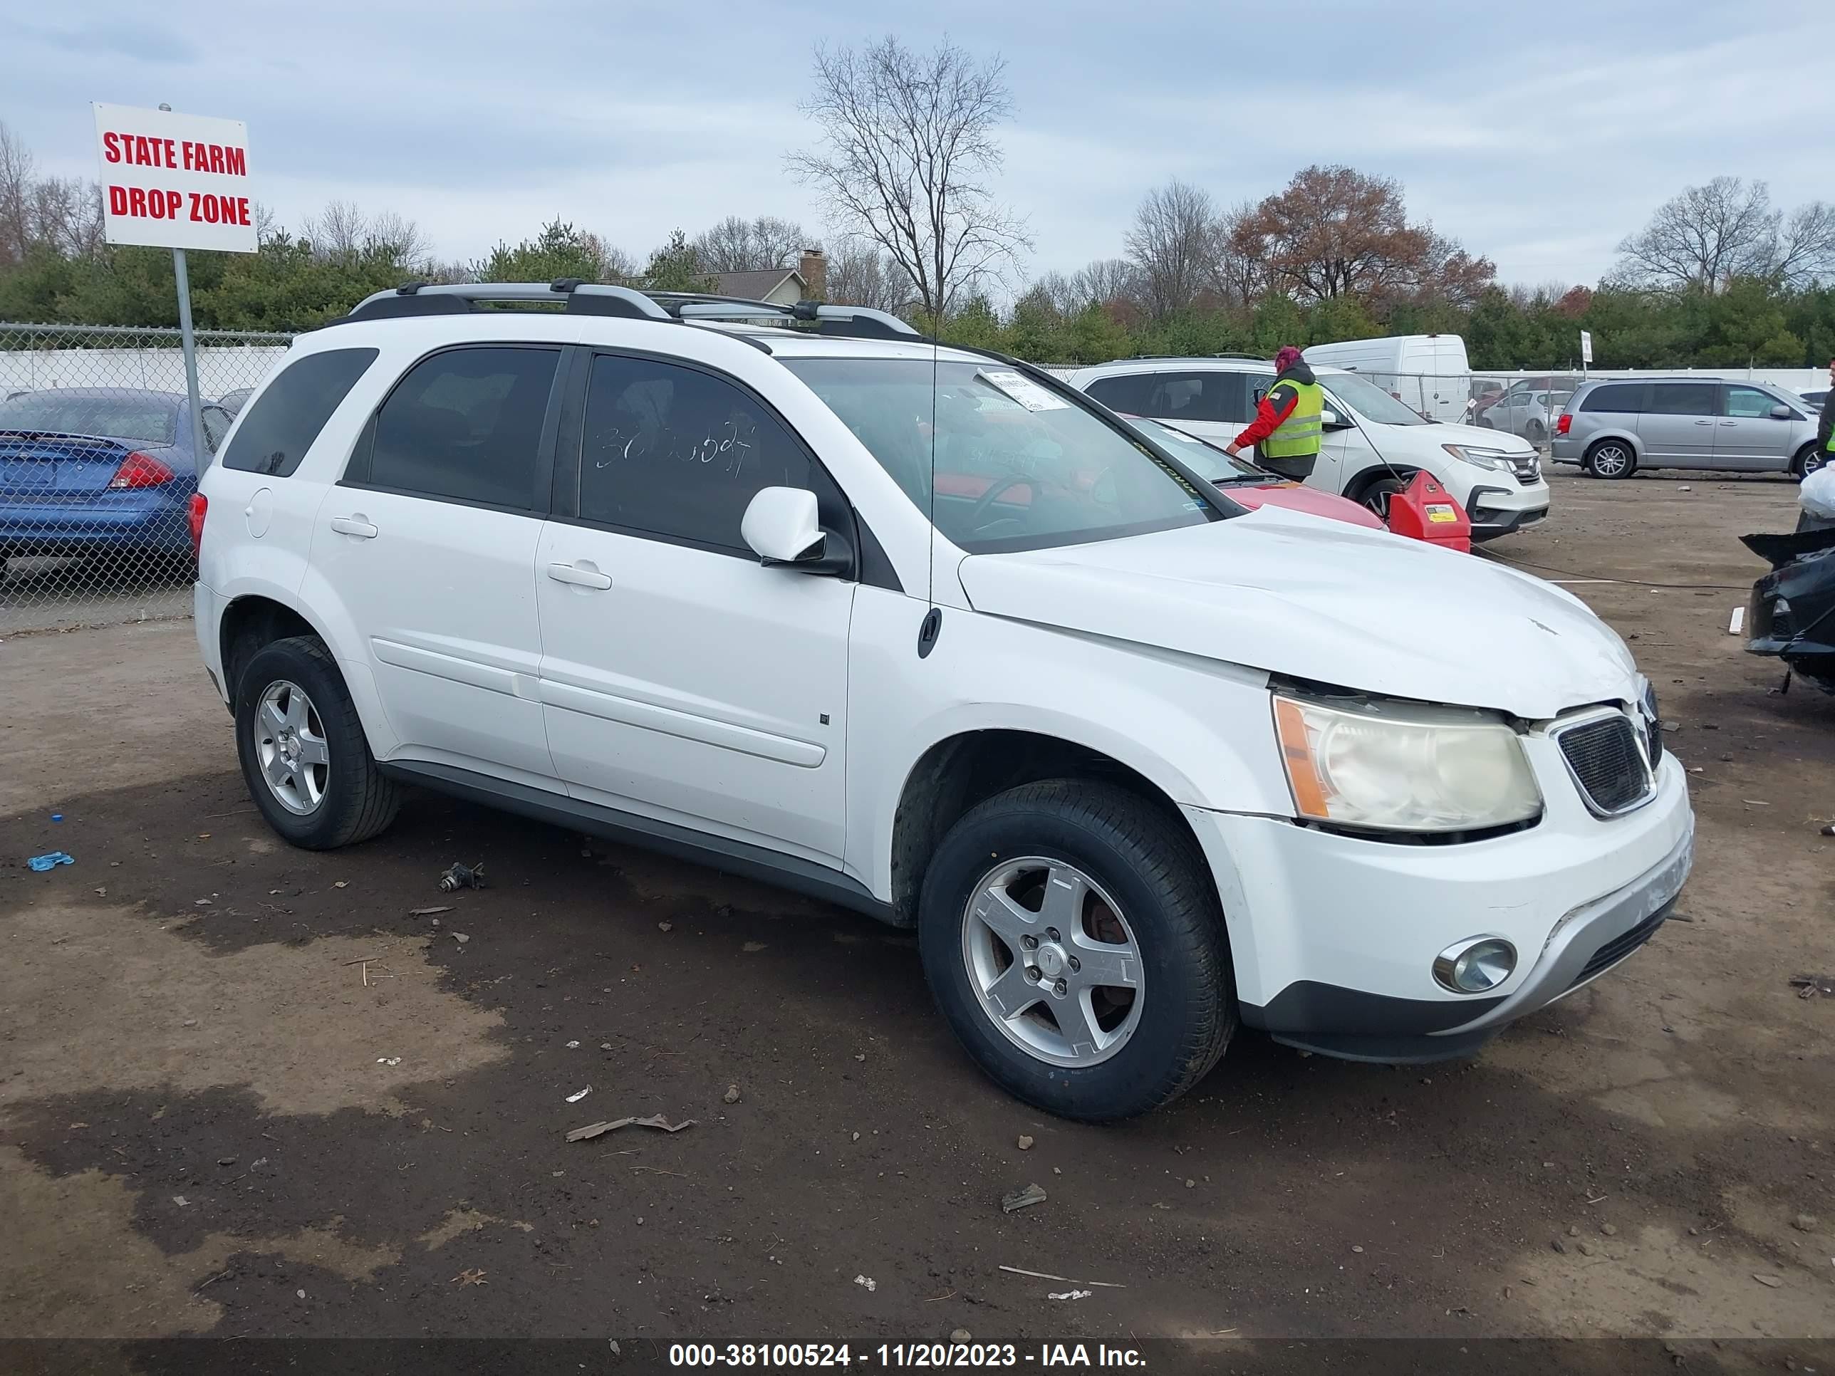
[[[472,259],[562,216],[639,259],[725,215],[822,222],[784,172],[820,40],[949,35],[1009,64],[1000,193],[1028,275],[1123,251],[1149,187],[1220,204],[1299,167],[1398,178],[1507,283],[1593,283],[1683,185],[1835,198],[1835,9],[1811,0],[1490,4],[7,6],[0,121],[97,174],[92,99],[248,121],[284,224],[395,209]]]

